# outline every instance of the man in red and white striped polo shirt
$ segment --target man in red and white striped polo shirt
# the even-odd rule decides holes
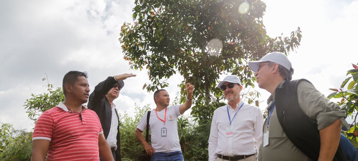
[[[70,71],[63,78],[65,101],[45,111],[37,120],[32,161],[113,161],[97,114],[84,107],[89,85],[86,72]]]

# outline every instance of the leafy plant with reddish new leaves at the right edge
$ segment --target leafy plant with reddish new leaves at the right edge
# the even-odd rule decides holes
[[[342,84],[340,85],[339,89],[330,88],[330,90],[334,91],[333,93],[329,94],[327,97],[331,98],[342,98],[340,102],[337,102],[339,106],[345,111],[346,117],[354,116],[354,122],[350,125],[352,128],[348,130],[349,133],[353,133],[353,131],[357,130],[358,126],[356,123],[357,116],[358,116],[358,67],[355,64],[352,64],[353,69],[347,71],[347,75],[352,75],[346,78]],[[353,78],[352,81],[350,81]],[[350,81],[350,82],[349,82]],[[349,83],[348,83],[349,82]],[[343,90],[347,85],[347,90]],[[347,133],[346,133],[347,135]],[[353,143],[353,145],[358,148],[358,140],[355,136],[349,135],[348,139]]]

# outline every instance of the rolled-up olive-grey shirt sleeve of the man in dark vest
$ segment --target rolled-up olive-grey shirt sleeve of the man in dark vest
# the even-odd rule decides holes
[[[337,103],[330,101],[313,84],[301,81],[297,86],[297,98],[306,115],[316,121],[318,130],[331,125],[336,119],[347,125],[345,112]]]

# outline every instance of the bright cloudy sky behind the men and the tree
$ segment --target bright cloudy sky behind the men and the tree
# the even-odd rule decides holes
[[[305,78],[325,96],[338,88],[358,63],[358,0],[263,0],[263,23],[271,37],[289,36],[299,26],[303,38],[289,59],[293,79]],[[134,73],[114,101],[120,113],[134,116],[134,106],[155,107],[147,71],[131,70],[118,42],[124,22],[132,22],[134,0],[0,1],[0,122],[31,130],[24,102],[46,91],[42,81],[62,86],[70,70],[87,71],[91,91],[108,76]],[[222,75],[222,80],[226,75]],[[165,88],[171,100],[183,78],[174,75]],[[257,87],[260,108],[269,93]],[[187,112],[190,113],[190,112]]]

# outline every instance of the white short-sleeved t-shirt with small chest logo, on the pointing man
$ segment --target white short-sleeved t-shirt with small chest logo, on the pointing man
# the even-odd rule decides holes
[[[164,114],[165,109],[157,112],[158,117],[156,116],[155,110],[153,109],[150,112],[149,116],[149,129],[151,133],[151,143],[152,147],[155,149],[155,152],[165,152],[170,153],[174,151],[180,151],[180,143],[178,136],[178,116],[180,105],[174,105],[167,107],[166,111],[166,121],[164,125]],[[147,127],[147,112],[143,115],[142,119],[139,122],[137,128],[141,131],[145,131]],[[166,136],[161,136],[162,128],[166,128]]]

